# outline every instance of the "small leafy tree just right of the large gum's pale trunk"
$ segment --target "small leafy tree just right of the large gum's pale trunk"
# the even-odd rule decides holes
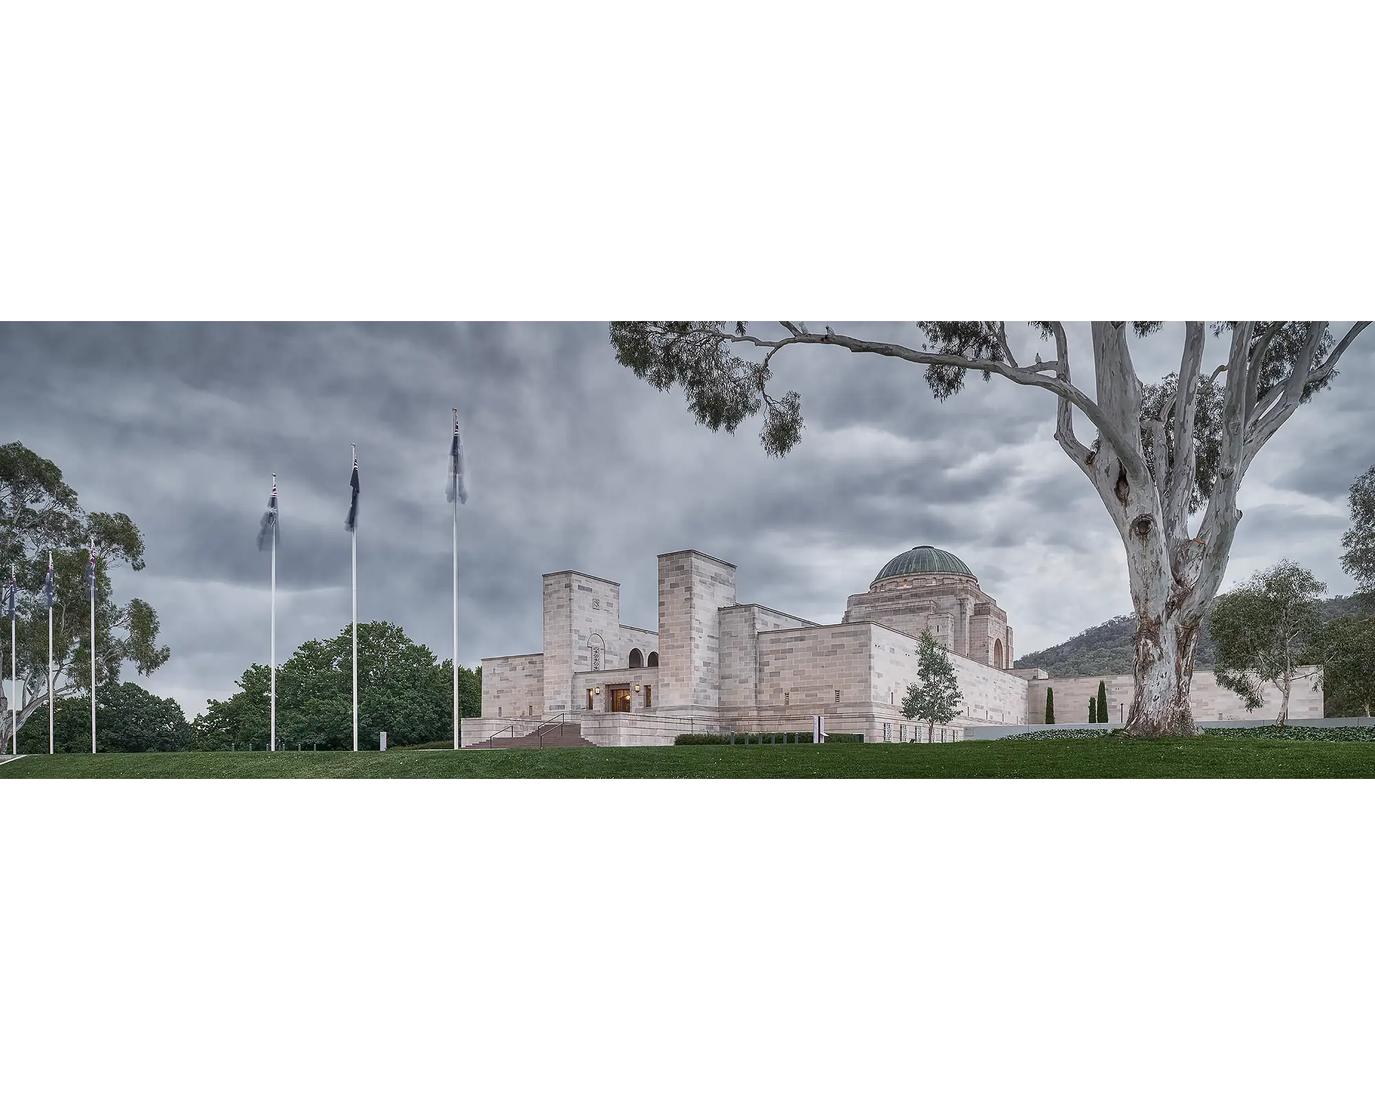
[[[1236,692],[1254,711],[1264,701],[1265,683],[1280,689],[1276,725],[1288,718],[1290,690],[1298,667],[1313,657],[1321,616],[1317,597],[1327,586],[1302,565],[1280,561],[1255,573],[1246,584],[1218,597],[1209,616],[1217,648],[1217,682]]]

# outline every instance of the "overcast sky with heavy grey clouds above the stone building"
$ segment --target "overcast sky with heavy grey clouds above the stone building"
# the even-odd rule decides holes
[[[771,322],[760,323],[771,326]],[[905,322],[832,322],[914,342]],[[1022,329],[1018,326],[1018,331]],[[1144,380],[1178,362],[1182,326],[1137,344]],[[1092,392],[1088,327],[1071,329]],[[1023,346],[1040,348],[1027,333]],[[1224,349],[1210,338],[1207,364]],[[1251,468],[1226,584],[1288,556],[1349,593],[1346,491],[1375,462],[1375,338]],[[738,566],[738,598],[821,623],[920,543],[958,554],[1006,609],[1018,653],[1130,610],[1116,532],[1052,439],[1049,395],[994,378],[936,403],[920,368],[829,348],[774,359],[806,430],[767,458],[693,422],[681,392],[619,366],[605,322],[0,323],[6,440],[55,461],[89,510],[126,512],[172,657],[147,688],[191,716],[268,656],[268,557],[282,500],[279,660],[349,620],[349,443],[359,446],[359,617],[441,659],[450,641],[450,408],[470,472],[459,513],[459,660],[540,649],[540,575],[622,584],[622,619],[656,627],[656,554]],[[1079,434],[1092,432],[1079,418]]]

